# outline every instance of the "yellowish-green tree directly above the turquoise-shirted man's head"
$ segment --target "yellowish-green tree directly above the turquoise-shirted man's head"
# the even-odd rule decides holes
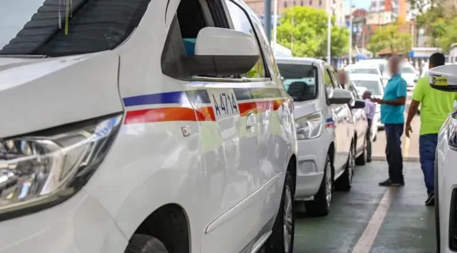
[[[412,34],[400,31],[400,23],[379,27],[370,37],[367,49],[374,54],[389,50],[393,54],[407,54],[411,51]]]

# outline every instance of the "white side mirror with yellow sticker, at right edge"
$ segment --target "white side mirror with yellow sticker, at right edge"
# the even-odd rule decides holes
[[[443,65],[429,70],[430,87],[440,91],[457,92],[457,65]]]

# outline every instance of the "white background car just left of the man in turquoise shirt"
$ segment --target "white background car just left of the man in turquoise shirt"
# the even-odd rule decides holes
[[[350,74],[350,79],[354,87],[358,91],[358,95],[362,96],[365,90],[369,90],[374,98],[380,98],[384,96],[384,88],[382,80],[376,74]],[[363,88],[363,89],[361,89]],[[375,123],[376,122],[376,123]],[[384,124],[381,122],[381,105],[376,104],[376,115],[373,125],[376,125],[378,130],[384,128]]]

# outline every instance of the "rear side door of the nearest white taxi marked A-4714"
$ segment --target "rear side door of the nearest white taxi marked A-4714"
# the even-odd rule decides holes
[[[257,105],[257,109],[263,108],[261,112],[259,111],[259,162],[265,194],[263,207],[260,210],[260,227],[268,228],[269,226],[265,225],[274,221],[281,200],[285,176],[283,172],[290,157],[286,150],[294,145],[290,133],[293,120],[292,100],[282,84],[274,52],[264,32],[263,24],[256,18],[254,12],[250,9],[247,9],[247,12],[250,14],[260,47],[264,52],[266,71],[271,76],[271,79],[265,82],[263,101]]]

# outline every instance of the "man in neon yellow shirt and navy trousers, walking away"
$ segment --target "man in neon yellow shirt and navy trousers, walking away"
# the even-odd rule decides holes
[[[441,53],[430,56],[429,69],[444,65],[445,58]],[[426,75],[417,81],[409,106],[406,119],[406,137],[412,132],[411,120],[420,108],[419,156],[428,198],[426,205],[435,204],[434,194],[434,162],[438,132],[446,120],[447,115],[454,110],[453,103],[457,100],[457,93],[443,92],[432,89],[429,85],[429,76]]]

